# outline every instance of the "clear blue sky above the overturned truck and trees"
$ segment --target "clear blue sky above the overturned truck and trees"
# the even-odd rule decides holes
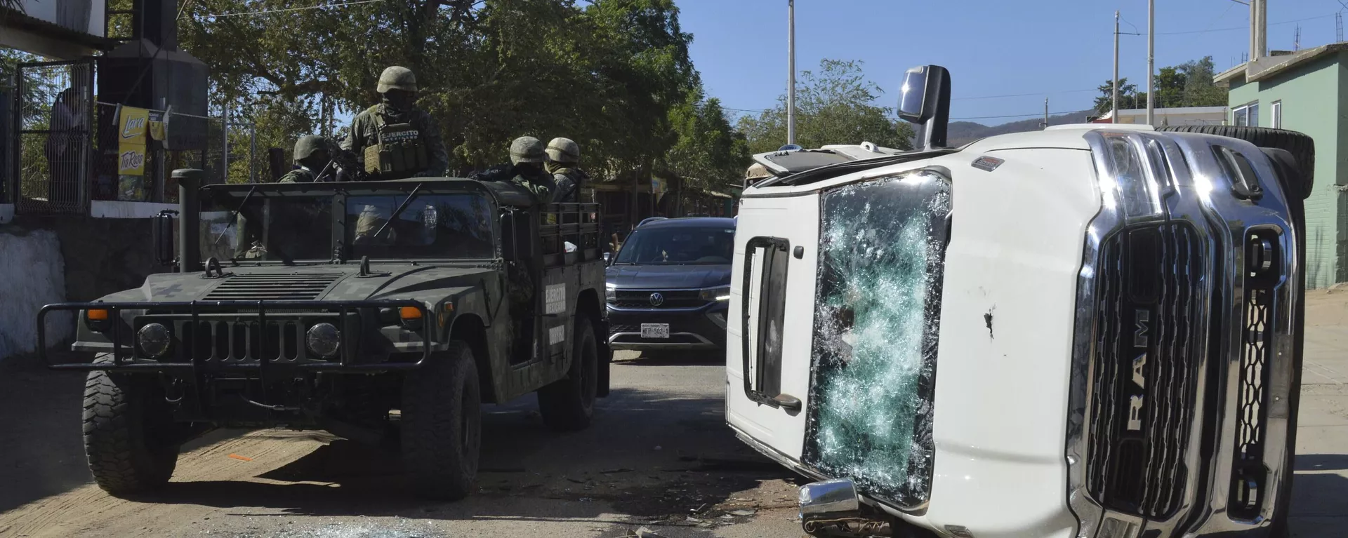
[[[1335,42],[1339,0],[1267,0],[1268,49]],[[727,108],[770,108],[786,92],[786,0],[679,0],[683,31],[709,97]],[[1348,4],[1348,0],[1344,1]],[[822,58],[864,61],[867,78],[892,107],[907,67],[950,69],[952,117],[984,124],[1082,111],[1113,69],[1113,12],[1120,31],[1119,74],[1146,88],[1146,0],[797,0],[795,66]],[[1305,20],[1304,20],[1305,19]],[[1132,23],[1132,24],[1128,24]],[[1157,0],[1157,69],[1211,55],[1217,71],[1248,50],[1250,8],[1232,0]],[[1237,30],[1228,30],[1237,28]],[[1089,92],[1081,92],[1089,90]],[[1029,94],[1019,97],[972,98]],[[1020,117],[983,117],[1024,115]]]

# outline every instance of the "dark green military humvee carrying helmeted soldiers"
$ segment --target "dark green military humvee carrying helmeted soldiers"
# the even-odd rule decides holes
[[[73,349],[93,359],[51,367],[89,371],[85,452],[108,492],[166,483],[210,429],[280,426],[398,445],[419,494],[458,499],[481,403],[537,392],[543,422],[573,430],[608,394],[597,205],[456,178],[174,175],[154,243],[175,272],[38,314],[78,311]]]

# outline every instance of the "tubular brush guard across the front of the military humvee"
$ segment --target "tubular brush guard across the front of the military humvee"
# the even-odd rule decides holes
[[[398,349],[398,352],[417,352],[419,353],[417,361],[379,361],[379,363],[356,363],[357,342],[364,330],[379,330],[376,326],[363,328],[360,324],[359,310],[360,309],[403,309],[414,307],[421,313],[421,328],[418,330],[418,340],[400,342],[404,348]],[[49,313],[53,311],[85,311],[85,310],[105,310],[106,328],[98,330],[109,341],[108,352],[112,355],[112,361],[109,363],[53,363],[47,353],[47,328],[46,318]],[[155,314],[144,314],[154,317],[154,321],[168,322],[174,329],[171,330],[171,352],[160,359],[137,357],[137,345],[135,341],[135,330],[137,328],[128,326],[127,322],[131,320],[123,320],[121,313],[124,310],[152,310]],[[228,320],[221,320],[220,314],[225,314]],[[204,316],[210,316],[210,318],[202,318]],[[309,359],[307,355],[313,353],[306,348],[306,341],[303,333],[307,332],[309,326],[303,322],[305,320],[313,320],[315,317],[329,318],[325,321],[336,322],[338,329],[338,352],[332,357],[318,357]],[[268,318],[272,322],[268,325]],[[88,322],[86,320],[75,320],[77,324]],[[212,334],[208,324],[214,324],[216,334]],[[222,329],[221,329],[221,325]],[[74,371],[181,371],[190,369],[194,372],[202,371],[248,371],[256,372],[259,376],[264,376],[268,369],[301,369],[301,371],[319,371],[319,372],[394,372],[394,371],[408,371],[421,368],[422,364],[430,357],[430,353],[435,351],[435,345],[431,341],[431,326],[434,325],[434,318],[431,311],[426,309],[426,305],[404,299],[404,301],[191,301],[191,302],[63,302],[46,305],[38,311],[38,356],[53,369],[74,369]],[[191,337],[194,330],[189,328],[208,328],[205,330],[205,342],[197,341]],[[240,330],[241,329],[241,330]],[[275,329],[275,330],[272,330]],[[284,330],[295,329],[295,334],[284,334]],[[90,329],[92,330],[92,329]],[[220,333],[224,330],[228,337],[222,337]],[[241,336],[241,338],[240,338]],[[295,340],[286,342],[290,336]],[[229,338],[228,341],[221,341],[220,338]],[[278,338],[275,344],[271,338]],[[241,340],[241,342],[240,342]],[[290,353],[293,357],[286,357],[284,349],[290,344],[295,352]],[[274,345],[274,348],[270,348]],[[239,347],[243,347],[243,357],[233,357],[233,353],[239,352]],[[224,348],[225,353],[220,353]],[[272,349],[276,349],[272,353]],[[221,355],[231,355],[231,357],[222,357]],[[272,356],[275,355],[275,356]],[[189,361],[182,361],[181,359]],[[170,361],[170,359],[178,359],[178,361]]]

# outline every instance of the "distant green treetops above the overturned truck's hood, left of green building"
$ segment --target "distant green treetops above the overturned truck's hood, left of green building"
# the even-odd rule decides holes
[[[1217,86],[1212,81],[1213,76],[1212,57],[1161,67],[1154,80],[1157,90],[1154,105],[1157,108],[1225,107],[1227,89]],[[1095,102],[1099,115],[1112,108],[1112,82],[1105,81],[1099,88],[1100,96]],[[1138,85],[1128,84],[1127,78],[1119,78],[1119,108],[1147,108],[1147,92],[1138,92]]]

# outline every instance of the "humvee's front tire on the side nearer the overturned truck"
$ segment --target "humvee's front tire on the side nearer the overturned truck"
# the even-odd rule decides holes
[[[461,341],[403,376],[403,467],[418,495],[468,496],[483,444],[481,387],[473,351]]]

